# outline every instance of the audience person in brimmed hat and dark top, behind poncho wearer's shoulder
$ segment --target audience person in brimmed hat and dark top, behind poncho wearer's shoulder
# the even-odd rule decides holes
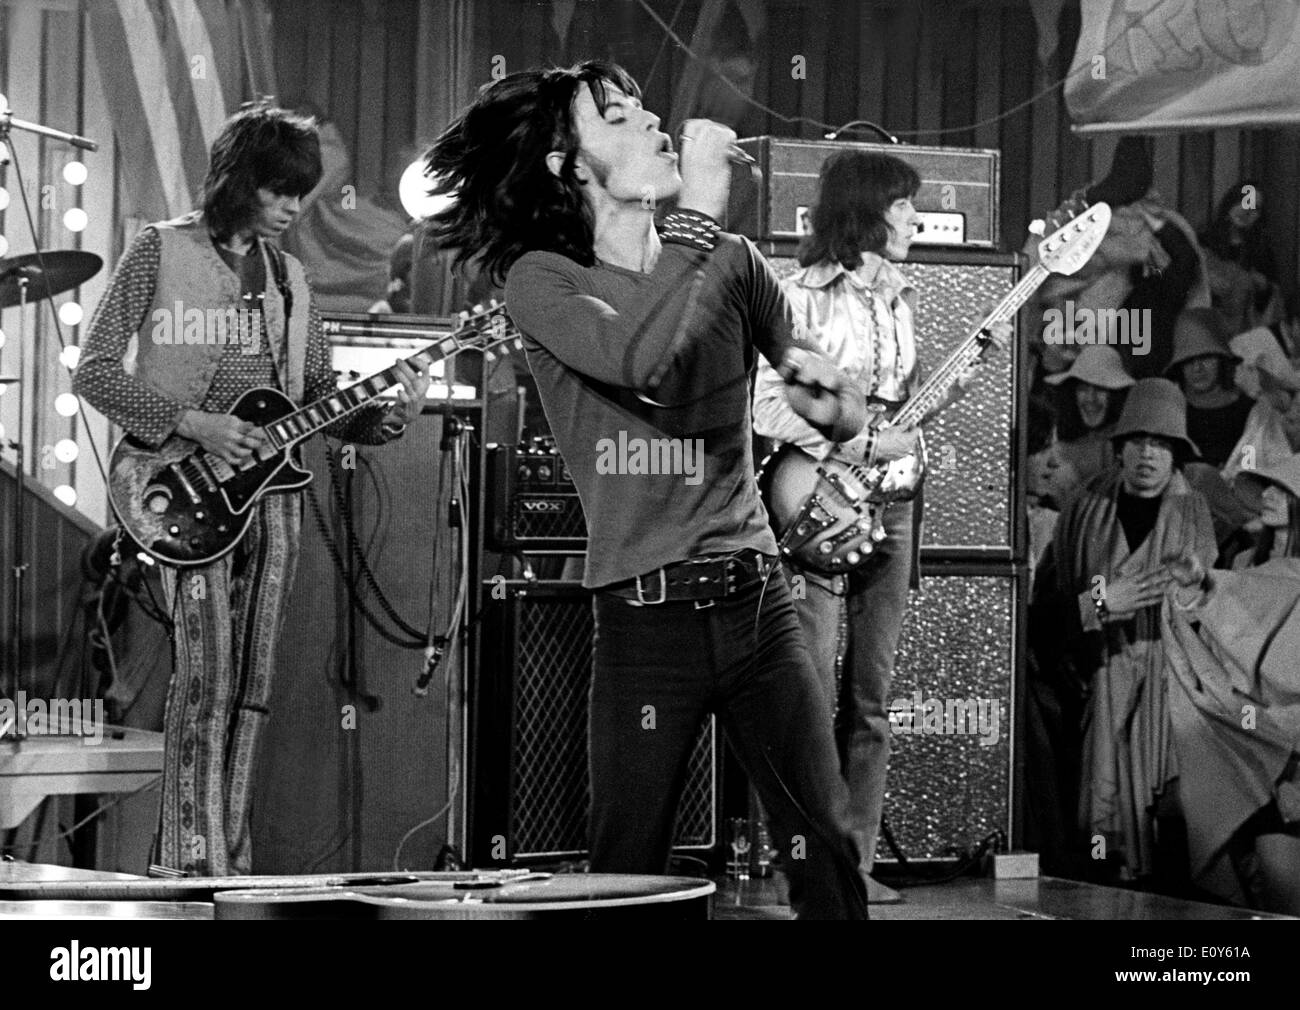
[[[1216,469],[1227,463],[1242,437],[1254,402],[1232,383],[1240,363],[1227,346],[1227,329],[1218,312],[1188,308],[1174,324],[1174,356],[1165,374],[1187,396],[1187,433],[1201,459]]]

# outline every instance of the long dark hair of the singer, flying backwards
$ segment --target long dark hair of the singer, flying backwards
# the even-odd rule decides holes
[[[533,250],[584,266],[595,261],[595,222],[573,173],[573,99],[584,84],[602,114],[606,86],[641,97],[636,81],[603,60],[521,70],[484,87],[425,153],[433,192],[455,195],[428,229],[439,246],[456,251],[456,266],[480,256],[481,268],[502,283],[515,260]],[[559,175],[546,165],[551,151],[564,152]]]

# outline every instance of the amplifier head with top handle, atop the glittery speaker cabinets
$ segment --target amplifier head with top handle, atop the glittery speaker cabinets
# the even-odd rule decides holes
[[[758,162],[762,179],[746,185],[740,179],[744,173],[736,173],[727,208],[728,231],[753,239],[805,235],[807,212],[816,203],[822,162],[836,151],[875,151],[906,161],[920,175],[914,203],[923,216],[933,214],[930,218],[933,224],[927,224],[914,244],[953,244],[953,235],[961,235],[966,246],[992,248],[998,243],[997,151],[784,136],[751,136],[738,146]]]

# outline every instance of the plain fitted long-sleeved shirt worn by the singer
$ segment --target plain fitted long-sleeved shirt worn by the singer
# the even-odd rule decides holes
[[[529,252],[506,304],[588,521],[584,584],[705,554],[776,554],[754,481],[749,372],[797,343],[753,243],[664,244],[654,269]]]

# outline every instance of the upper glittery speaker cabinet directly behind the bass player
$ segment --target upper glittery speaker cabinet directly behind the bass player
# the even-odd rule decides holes
[[[759,243],[781,278],[798,270],[793,243]],[[916,351],[931,374],[1019,279],[1010,253],[913,248],[902,265],[916,289]],[[926,425],[930,468],[922,546],[971,560],[1010,562],[1022,551],[1017,516],[1018,419],[1023,412],[1014,377],[1018,339],[1009,351],[991,350],[966,395]]]

